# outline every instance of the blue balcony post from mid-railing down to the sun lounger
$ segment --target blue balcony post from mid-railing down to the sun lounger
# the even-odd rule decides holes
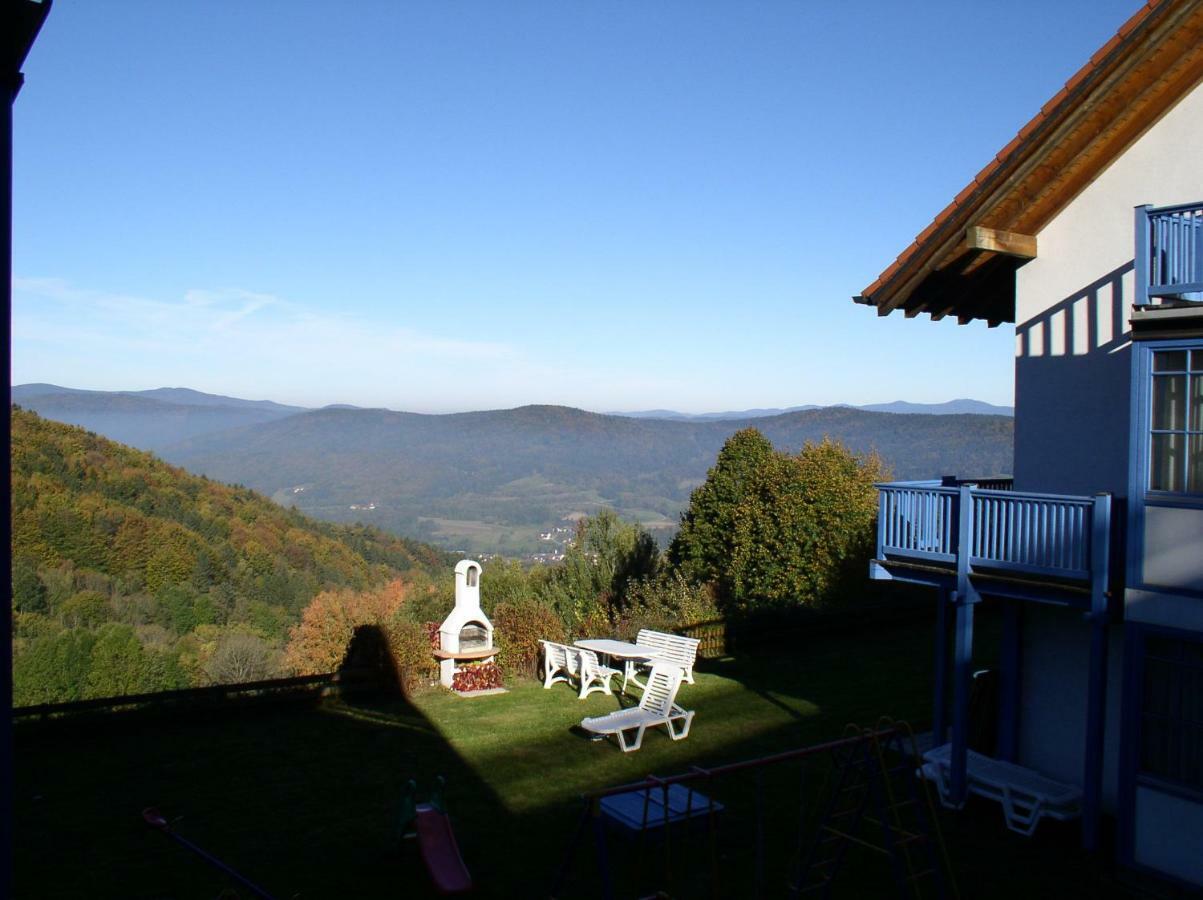
[[[967,793],[970,689],[973,679],[973,606],[982,599],[970,581],[970,553],[973,549],[973,489],[961,487],[956,503],[956,610],[953,624],[953,741],[949,748],[953,804],[965,803]]]

